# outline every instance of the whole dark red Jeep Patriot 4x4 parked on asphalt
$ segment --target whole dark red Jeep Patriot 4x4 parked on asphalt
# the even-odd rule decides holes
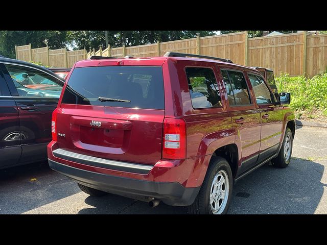
[[[294,112],[256,69],[172,52],[91,58],[72,69],[48,158],[87,194],[221,214],[235,181],[270,160],[290,163]]]

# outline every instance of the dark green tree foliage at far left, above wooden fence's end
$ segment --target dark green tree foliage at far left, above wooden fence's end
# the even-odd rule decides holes
[[[15,58],[15,45],[27,45],[32,48],[63,48],[66,45],[67,31],[0,31],[0,52],[6,57]]]

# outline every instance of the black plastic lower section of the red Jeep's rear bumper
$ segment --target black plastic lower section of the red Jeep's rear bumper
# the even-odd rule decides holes
[[[156,198],[172,206],[191,205],[200,187],[186,188],[178,182],[156,182],[106,175],[49,160],[49,166],[74,181],[109,193]]]

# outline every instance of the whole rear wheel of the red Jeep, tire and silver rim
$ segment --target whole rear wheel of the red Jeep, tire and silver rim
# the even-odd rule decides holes
[[[231,199],[232,183],[228,162],[222,157],[213,157],[200,191],[189,206],[189,213],[225,214]]]

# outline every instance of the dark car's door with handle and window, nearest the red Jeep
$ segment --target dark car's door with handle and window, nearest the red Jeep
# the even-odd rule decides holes
[[[5,78],[19,113],[21,162],[46,159],[51,141],[51,116],[57,107],[64,82],[20,64],[4,64]]]

